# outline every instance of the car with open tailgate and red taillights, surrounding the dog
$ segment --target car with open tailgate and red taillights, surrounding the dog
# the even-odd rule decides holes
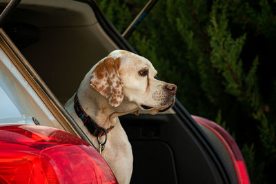
[[[8,3],[0,0],[0,7]],[[137,52],[95,1],[11,1],[6,11],[0,19],[0,100],[6,101],[0,104],[0,181],[116,183],[63,104],[112,50]],[[155,116],[119,119],[134,156],[130,183],[250,183],[230,134],[191,116],[177,100]]]

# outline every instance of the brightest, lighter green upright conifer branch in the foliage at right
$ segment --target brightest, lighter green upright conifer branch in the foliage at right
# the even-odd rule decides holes
[[[212,48],[210,60],[213,68],[224,77],[225,91],[236,96],[239,101],[246,103],[253,110],[259,108],[259,91],[256,70],[258,57],[246,75],[240,54],[246,40],[246,34],[233,39],[228,29],[227,9],[221,1],[215,1],[210,14],[211,25],[208,28],[210,46]]]

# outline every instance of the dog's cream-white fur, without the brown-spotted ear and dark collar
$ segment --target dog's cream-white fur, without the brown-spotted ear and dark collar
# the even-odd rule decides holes
[[[110,105],[110,101],[90,85],[93,71],[104,59],[99,61],[86,74],[77,92],[81,107],[99,126],[104,128],[114,126],[108,133],[108,140],[102,156],[115,174],[117,181],[120,184],[124,184],[130,183],[133,157],[128,136],[121,127],[118,116],[137,112],[142,108],[141,105],[152,107],[149,112],[156,114],[159,110],[164,110],[174,103],[175,94],[169,94],[164,90],[164,86],[168,85],[168,83],[154,79],[157,71],[153,68],[150,61],[144,57],[123,50],[115,50],[108,57],[112,57],[113,59],[119,57],[120,59],[118,74],[124,87],[124,100],[119,106]],[[139,75],[139,71],[143,68],[148,68],[148,76]],[[68,110],[72,118],[75,119],[95,147],[98,148],[97,138],[89,133],[81,119],[77,116],[73,106],[73,99],[74,95],[67,101],[65,105],[66,110]],[[104,136],[100,139],[103,140]]]

